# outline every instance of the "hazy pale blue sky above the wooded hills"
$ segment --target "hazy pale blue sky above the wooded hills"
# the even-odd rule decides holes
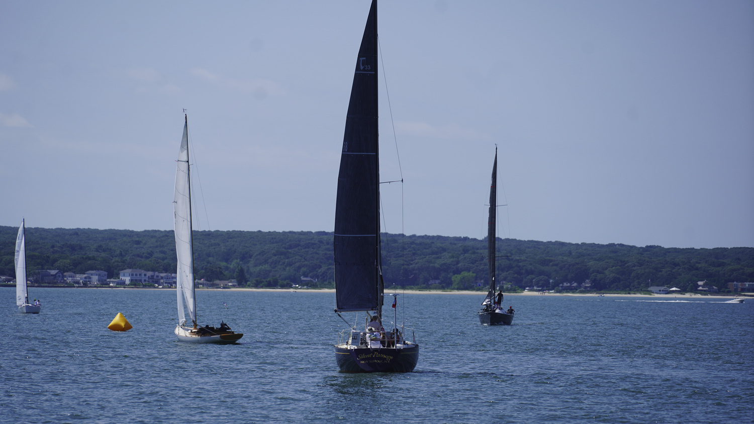
[[[0,225],[332,231],[368,0],[0,0]],[[383,226],[754,247],[754,2],[379,3]]]

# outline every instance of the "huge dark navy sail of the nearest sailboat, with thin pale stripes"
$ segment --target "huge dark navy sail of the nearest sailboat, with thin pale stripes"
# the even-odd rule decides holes
[[[382,307],[377,107],[377,2],[372,2],[356,59],[338,174],[333,246],[338,312]]]

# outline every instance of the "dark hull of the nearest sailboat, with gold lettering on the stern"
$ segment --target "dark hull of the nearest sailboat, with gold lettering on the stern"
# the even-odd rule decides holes
[[[335,357],[342,373],[410,373],[419,360],[419,346],[403,349],[344,349],[336,346]]]

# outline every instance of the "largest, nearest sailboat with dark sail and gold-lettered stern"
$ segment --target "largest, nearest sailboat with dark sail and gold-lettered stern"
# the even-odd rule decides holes
[[[335,236],[335,312],[348,324],[335,345],[340,371],[411,372],[419,346],[413,332],[383,321],[384,296],[379,211],[379,136],[377,99],[377,1],[372,1],[356,60],[338,174]],[[359,324],[359,313],[366,324]],[[355,313],[354,324],[341,313]],[[390,330],[385,331],[385,327]]]

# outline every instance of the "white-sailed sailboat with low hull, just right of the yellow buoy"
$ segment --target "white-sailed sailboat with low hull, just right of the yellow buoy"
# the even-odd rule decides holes
[[[244,336],[231,331],[222,322],[215,328],[210,325],[197,325],[196,294],[194,288],[194,239],[192,237],[191,175],[189,166],[189,118],[185,117],[183,138],[176,166],[176,189],[173,197],[175,217],[176,292],[178,295],[178,325],[175,333],[178,340],[189,343],[234,343]],[[185,308],[189,310],[191,323],[186,322]]]

